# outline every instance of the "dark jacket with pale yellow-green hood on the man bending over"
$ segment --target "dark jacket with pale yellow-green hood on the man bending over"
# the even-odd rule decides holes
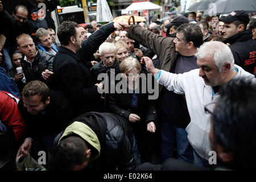
[[[82,114],[56,136],[54,145],[72,134],[79,135],[93,147],[90,163],[94,169],[135,169],[131,129],[122,117],[97,112]]]

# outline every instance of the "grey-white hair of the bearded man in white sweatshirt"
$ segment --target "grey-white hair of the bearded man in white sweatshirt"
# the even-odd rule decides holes
[[[234,69],[234,57],[228,45],[219,41],[210,41],[204,43],[200,48],[197,48],[195,56],[203,59],[209,55],[213,56],[214,64],[218,67],[218,72],[222,71],[222,67],[226,63],[230,63],[231,69]]]

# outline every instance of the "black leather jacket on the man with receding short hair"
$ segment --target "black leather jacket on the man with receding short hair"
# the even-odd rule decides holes
[[[47,81],[44,80],[44,78],[42,77],[42,72],[44,72],[46,69],[52,71],[54,56],[37,48],[36,51],[38,51],[38,53],[35,56],[34,61],[32,62],[32,66],[30,63],[24,60],[24,55],[22,56],[22,60],[20,61],[26,78],[26,82],[28,83],[33,80],[40,80],[48,84]]]

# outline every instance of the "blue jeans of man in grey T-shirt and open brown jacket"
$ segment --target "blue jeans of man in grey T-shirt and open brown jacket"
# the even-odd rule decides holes
[[[176,127],[169,119],[162,118],[160,131],[162,135],[162,162],[168,158],[172,158],[174,143],[177,140],[177,159],[193,163],[193,150],[191,144],[188,142],[188,133],[186,130]]]

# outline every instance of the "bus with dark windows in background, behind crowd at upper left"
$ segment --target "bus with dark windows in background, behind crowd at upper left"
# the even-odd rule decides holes
[[[90,22],[92,20],[96,20],[96,10],[97,4],[93,3],[91,7],[88,8],[88,14]],[[81,7],[76,6],[67,6],[67,7],[60,7],[57,6],[57,12],[59,16],[59,23],[64,22],[65,20],[71,20],[76,22],[77,24],[84,24],[89,23],[85,22],[84,20],[84,11]]]

